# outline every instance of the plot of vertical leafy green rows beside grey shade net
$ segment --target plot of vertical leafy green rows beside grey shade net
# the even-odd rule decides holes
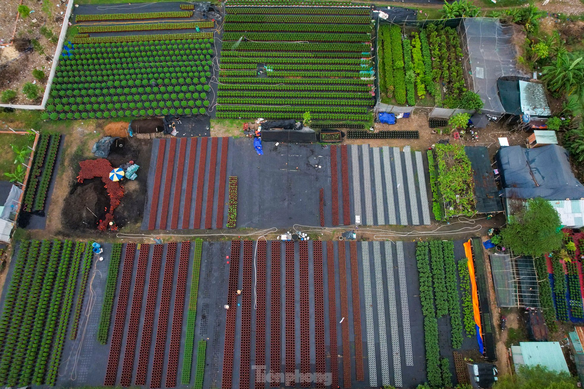
[[[387,96],[398,105],[459,107],[467,88],[456,30],[429,24],[419,31],[406,31],[404,37],[401,27],[381,23],[378,34],[382,98]],[[429,103],[424,102],[427,98]]]

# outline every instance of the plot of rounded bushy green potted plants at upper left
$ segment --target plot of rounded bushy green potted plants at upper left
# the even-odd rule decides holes
[[[68,44],[72,54],[61,56],[46,119],[206,113],[211,105],[207,84],[213,75],[212,37],[103,39],[107,43]],[[129,39],[136,41],[124,41]]]

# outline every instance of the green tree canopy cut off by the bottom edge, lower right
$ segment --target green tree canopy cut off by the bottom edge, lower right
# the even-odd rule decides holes
[[[545,367],[520,366],[513,376],[501,376],[493,389],[576,389],[576,378]]]

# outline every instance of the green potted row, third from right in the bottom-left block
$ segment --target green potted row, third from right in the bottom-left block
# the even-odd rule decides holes
[[[51,303],[47,314],[47,324],[45,325],[44,334],[40,342],[39,357],[36,362],[36,367],[34,368],[32,383],[35,385],[42,385],[44,382],[44,373],[50,356],[51,346],[53,345],[57,321],[62,313],[61,300],[64,294],[65,282],[67,281],[72,251],[73,242],[65,240],[61,252],[61,261],[55,277],[55,290],[51,296]]]

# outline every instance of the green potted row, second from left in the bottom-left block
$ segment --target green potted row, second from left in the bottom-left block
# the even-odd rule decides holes
[[[37,269],[37,259],[39,259],[39,249],[41,243],[32,241],[28,250],[26,265],[23,269],[19,282],[19,291],[14,298],[13,312],[10,325],[6,329],[4,337],[4,349],[2,350],[2,359],[0,359],[0,384],[5,384],[8,380],[8,374],[12,369],[12,355],[16,347],[19,346],[18,338],[20,329],[23,327],[23,319],[29,305],[30,291],[35,282],[34,275]],[[34,304],[31,304],[34,306]]]

